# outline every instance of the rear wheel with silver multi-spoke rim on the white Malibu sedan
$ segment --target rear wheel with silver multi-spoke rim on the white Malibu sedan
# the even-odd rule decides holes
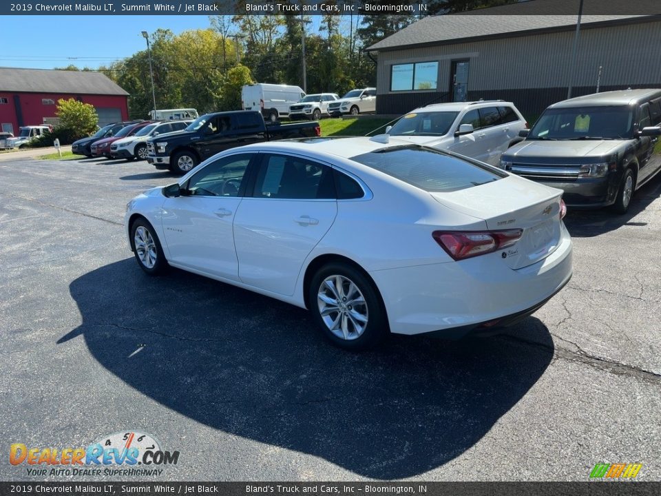
[[[324,265],[308,289],[313,319],[335,346],[360,351],[389,332],[386,310],[374,282],[343,262]]]

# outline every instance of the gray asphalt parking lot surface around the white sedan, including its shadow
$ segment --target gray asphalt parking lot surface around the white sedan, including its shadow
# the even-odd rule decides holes
[[[145,162],[0,161],[1,480],[661,480],[661,177],[627,216],[569,212],[574,278],[505,335],[330,347],[306,311],[183,271],[149,278],[128,200]],[[28,475],[9,445],[112,433],[155,476]]]

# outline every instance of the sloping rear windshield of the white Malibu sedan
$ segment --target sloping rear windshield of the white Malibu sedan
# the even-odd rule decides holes
[[[351,160],[436,193],[479,186],[507,176],[487,165],[417,145],[379,149]]]

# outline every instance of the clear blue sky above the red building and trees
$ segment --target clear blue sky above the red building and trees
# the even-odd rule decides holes
[[[0,16],[0,67],[91,69],[145,50],[142,31],[211,27],[205,15]]]

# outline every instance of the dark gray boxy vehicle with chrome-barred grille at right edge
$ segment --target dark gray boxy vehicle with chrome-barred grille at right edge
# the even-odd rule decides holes
[[[653,154],[660,125],[661,90],[579,96],[548,107],[500,166],[563,189],[567,206],[624,214],[633,192],[661,171]]]

